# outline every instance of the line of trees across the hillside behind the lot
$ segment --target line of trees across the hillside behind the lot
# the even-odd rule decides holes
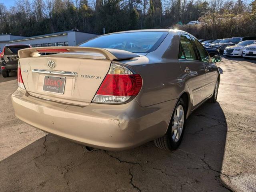
[[[199,20],[200,24],[186,25]],[[178,28],[198,38],[256,34],[256,1],[242,0],[16,0],[0,3],[0,33],[34,36],[79,29],[106,33]]]

